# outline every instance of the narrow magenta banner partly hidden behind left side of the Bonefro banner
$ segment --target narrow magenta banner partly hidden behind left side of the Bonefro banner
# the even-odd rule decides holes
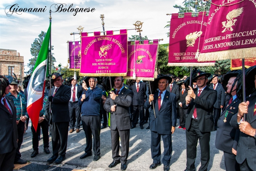
[[[73,45],[73,42],[68,42],[68,55],[69,55],[69,69],[74,69],[74,66],[75,66],[74,58],[76,61],[76,69],[80,69],[81,44],[79,44],[79,41],[75,41],[75,45]]]

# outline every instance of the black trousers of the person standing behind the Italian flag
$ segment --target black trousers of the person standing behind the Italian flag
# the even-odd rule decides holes
[[[44,141],[44,148],[49,148],[49,126],[48,126],[48,121],[44,119],[41,123],[38,123],[37,125],[37,132],[35,132],[35,128],[33,124],[31,124],[31,131],[32,131],[32,147],[33,150],[38,150],[38,136],[41,133],[41,128],[42,128],[42,133],[43,133],[43,141]]]

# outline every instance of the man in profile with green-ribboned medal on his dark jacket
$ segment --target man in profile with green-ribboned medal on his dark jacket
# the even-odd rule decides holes
[[[238,112],[238,105],[240,103],[236,95],[236,76],[239,71],[228,72],[223,78],[227,84],[222,84],[222,86],[227,87],[227,93],[231,94],[232,97],[226,106],[222,108],[221,116],[218,119],[215,147],[224,152],[226,171],[240,171],[239,164],[236,162],[237,143],[240,131],[234,129],[229,123],[232,116]]]

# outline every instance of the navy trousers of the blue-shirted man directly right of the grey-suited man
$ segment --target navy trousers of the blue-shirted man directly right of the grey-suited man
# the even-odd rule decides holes
[[[172,157],[172,134],[158,134],[151,131],[151,157],[153,163],[160,164],[161,159],[161,136],[163,139],[163,165],[169,166]]]

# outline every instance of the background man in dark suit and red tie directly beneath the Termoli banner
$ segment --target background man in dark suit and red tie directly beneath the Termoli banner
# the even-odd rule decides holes
[[[140,117],[140,129],[143,129],[143,125],[145,122],[145,110],[144,103],[146,101],[145,95],[147,91],[146,83],[140,82],[140,80],[136,80],[136,82],[131,86],[131,90],[133,91],[133,114],[132,114],[132,128],[136,127],[137,120]]]

